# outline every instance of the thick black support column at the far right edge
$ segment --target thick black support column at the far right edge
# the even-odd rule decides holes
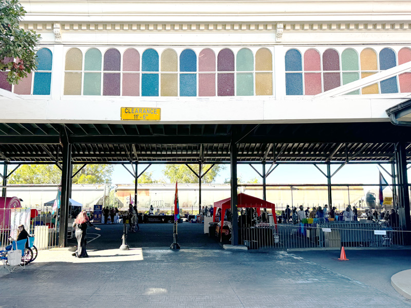
[[[399,142],[395,145],[395,158],[398,172],[398,215],[400,216],[400,225],[403,230],[411,230],[409,216],[409,196],[408,196],[408,177],[407,177],[407,152],[405,143]],[[409,244],[409,237],[406,240]]]

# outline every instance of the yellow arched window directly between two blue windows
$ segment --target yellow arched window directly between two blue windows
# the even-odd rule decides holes
[[[161,96],[177,96],[177,53],[173,49],[166,49],[161,54]]]

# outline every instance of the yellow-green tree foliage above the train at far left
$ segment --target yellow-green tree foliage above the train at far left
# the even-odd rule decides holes
[[[73,174],[82,165],[73,165]],[[111,182],[113,165],[86,165],[73,178],[73,184],[104,184]],[[60,184],[61,170],[55,165],[23,165],[8,179],[9,184]]]

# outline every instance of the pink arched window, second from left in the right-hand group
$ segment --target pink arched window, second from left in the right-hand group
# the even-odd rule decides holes
[[[308,49],[304,52],[304,92],[315,95],[322,91],[320,52]]]

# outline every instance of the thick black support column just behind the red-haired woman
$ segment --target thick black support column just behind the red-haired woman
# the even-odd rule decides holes
[[[67,218],[68,218],[68,197],[71,185],[71,144],[67,136],[62,133],[63,143],[63,170],[61,175],[61,198],[60,198],[60,234],[59,246],[67,246]]]

